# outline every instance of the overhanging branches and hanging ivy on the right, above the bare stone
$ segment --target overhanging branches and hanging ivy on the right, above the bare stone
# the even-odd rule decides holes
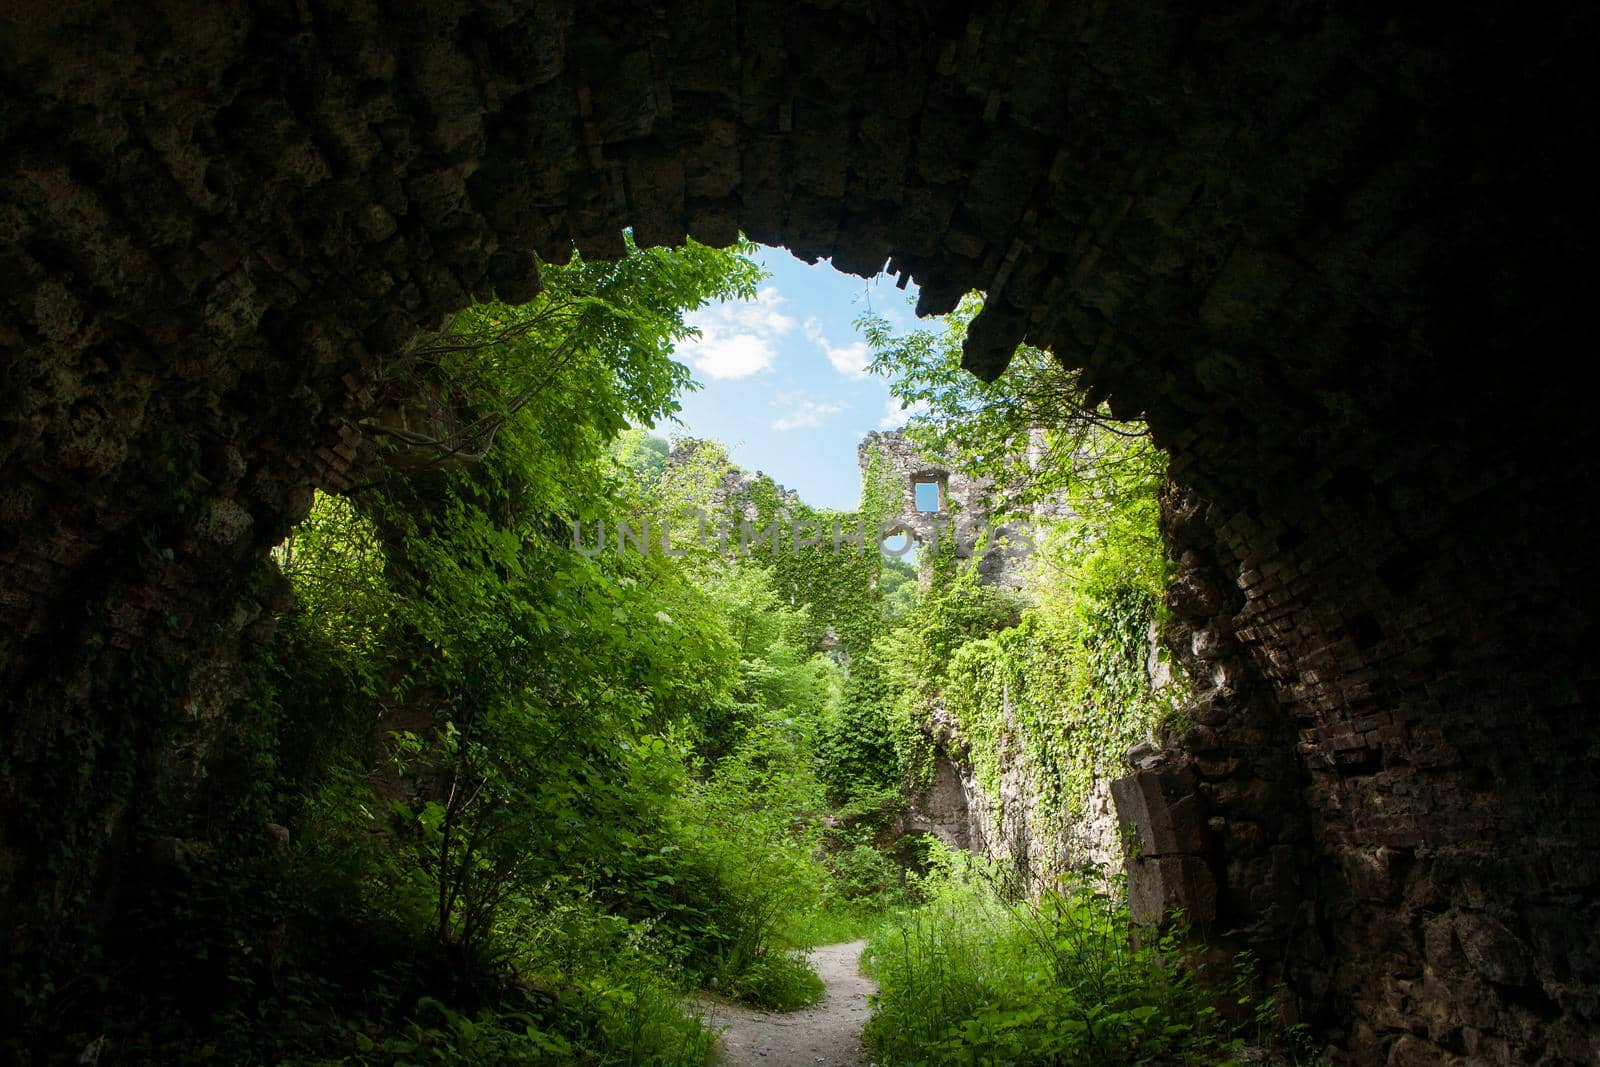
[[[1054,518],[1032,526],[1024,597],[982,584],[949,544],[925,561],[926,589],[872,651],[886,681],[880,717],[912,787],[930,781],[938,718],[990,800],[1002,769],[1021,771],[1040,825],[1054,827],[1070,824],[1094,781],[1117,773],[1179,696],[1152,670],[1166,581],[1157,507],[1165,458],[1142,426],[1090,403],[1050,354],[1019,349],[995,382],[962,371],[979,306],[968,298],[941,326],[902,336],[883,318],[864,320],[874,368],[915,405],[909,429],[926,453],[990,480],[995,515],[1040,506]]]

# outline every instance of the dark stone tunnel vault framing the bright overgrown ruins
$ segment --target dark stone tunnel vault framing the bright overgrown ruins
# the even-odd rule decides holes
[[[1600,1056],[1595,11],[571,0],[0,13],[6,969],[184,817],[370,387],[738,232],[989,296],[1144,414],[1216,925],[1352,1062]],[[70,859],[67,859],[70,857]]]

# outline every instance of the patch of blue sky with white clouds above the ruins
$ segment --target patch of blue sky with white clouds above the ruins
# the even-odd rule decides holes
[[[910,328],[915,286],[842,274],[826,259],[810,266],[781,248],[762,248],[757,259],[771,274],[757,299],[690,317],[702,336],[678,346],[677,358],[701,389],[683,397],[682,426],[656,432],[715,438],[736,464],[766,472],[805,502],[853,509],[856,445],[906,421],[886,382],[867,373],[867,346],[853,323],[870,309],[896,330]]]

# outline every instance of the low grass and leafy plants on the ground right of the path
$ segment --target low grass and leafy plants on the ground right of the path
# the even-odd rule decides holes
[[[890,1064],[1216,1064],[1270,1016],[1248,961],[1221,990],[1178,936],[1134,945],[1126,910],[1086,886],[1010,902],[998,873],[946,854],[926,902],[867,945],[867,1041]],[[1214,998],[1232,1001],[1224,1014]],[[1237,1022],[1243,1016],[1243,1025]]]

